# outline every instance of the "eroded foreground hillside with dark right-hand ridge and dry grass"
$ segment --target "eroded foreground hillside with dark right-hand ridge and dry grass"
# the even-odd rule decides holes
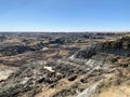
[[[112,92],[112,97],[129,97],[129,39],[92,45],[69,58],[25,64],[0,83],[0,97],[104,97]]]

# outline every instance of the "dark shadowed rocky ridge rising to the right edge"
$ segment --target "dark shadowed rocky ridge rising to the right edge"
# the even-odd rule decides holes
[[[114,54],[118,56],[130,56],[130,37],[123,37],[116,41],[94,44],[90,47],[80,50],[75,54],[76,58],[91,58],[98,54]]]

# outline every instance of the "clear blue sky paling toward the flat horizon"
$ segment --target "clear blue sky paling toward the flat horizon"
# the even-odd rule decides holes
[[[0,0],[0,31],[129,31],[130,0]]]

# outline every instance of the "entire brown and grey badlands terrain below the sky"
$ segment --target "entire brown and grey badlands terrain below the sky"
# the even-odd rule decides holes
[[[129,32],[1,32],[0,97],[130,97]]]

